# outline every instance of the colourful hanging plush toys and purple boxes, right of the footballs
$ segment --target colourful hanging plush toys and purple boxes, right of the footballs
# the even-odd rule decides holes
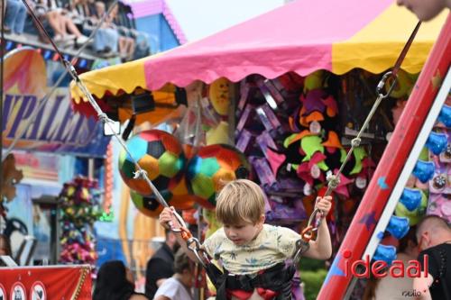
[[[345,161],[346,150],[373,107],[368,99],[373,99],[373,87],[380,79],[361,70],[352,73],[337,77],[318,70],[307,77],[287,73],[275,79],[250,76],[241,82],[235,145],[249,159],[255,180],[267,195],[269,223],[302,226],[317,196],[324,194],[327,177],[336,174]],[[363,133],[360,145],[353,147],[338,177],[331,214],[327,215],[336,248],[373,178],[387,143],[386,133],[393,130],[393,103],[399,99],[400,107],[405,104],[414,82],[411,78],[402,75],[398,98],[389,99],[378,109],[377,118]],[[443,136],[439,138],[431,138],[432,147],[443,148]],[[425,171],[428,169],[419,168],[419,177],[427,175]],[[403,235],[409,224],[424,214],[427,194],[416,200],[419,204],[412,211],[400,205],[399,215],[391,222],[392,236]],[[385,259],[393,259],[392,249],[382,252],[390,254]]]

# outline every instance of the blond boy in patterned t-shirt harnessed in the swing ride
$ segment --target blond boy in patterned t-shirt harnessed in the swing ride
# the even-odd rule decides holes
[[[318,197],[316,207],[321,210],[323,222],[316,241],[309,241],[304,256],[328,259],[332,245],[326,219],[331,197]],[[160,223],[173,228],[178,224],[173,208],[165,208]],[[207,238],[203,249],[214,259],[220,259],[225,276],[216,282],[216,299],[291,299],[290,281],[294,268],[285,268],[285,260],[297,250],[299,233],[288,228],[265,224],[264,195],[260,186],[247,179],[231,181],[217,195],[216,218],[223,227]],[[186,242],[180,245],[186,249]],[[187,250],[190,259],[196,260]],[[215,280],[213,280],[215,281]],[[219,287],[217,287],[219,286]],[[247,291],[247,292],[246,292]],[[271,295],[273,295],[271,297]]]

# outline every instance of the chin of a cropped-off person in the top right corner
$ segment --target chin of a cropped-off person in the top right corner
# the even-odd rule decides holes
[[[396,0],[396,3],[406,6],[421,21],[429,21],[444,9],[451,8],[451,0]]]

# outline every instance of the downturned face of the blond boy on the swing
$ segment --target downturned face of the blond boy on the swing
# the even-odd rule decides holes
[[[257,236],[262,231],[262,225],[264,223],[264,215],[255,224],[249,222],[241,222],[235,224],[224,224],[224,232],[226,237],[235,243],[237,246],[244,245]]]

